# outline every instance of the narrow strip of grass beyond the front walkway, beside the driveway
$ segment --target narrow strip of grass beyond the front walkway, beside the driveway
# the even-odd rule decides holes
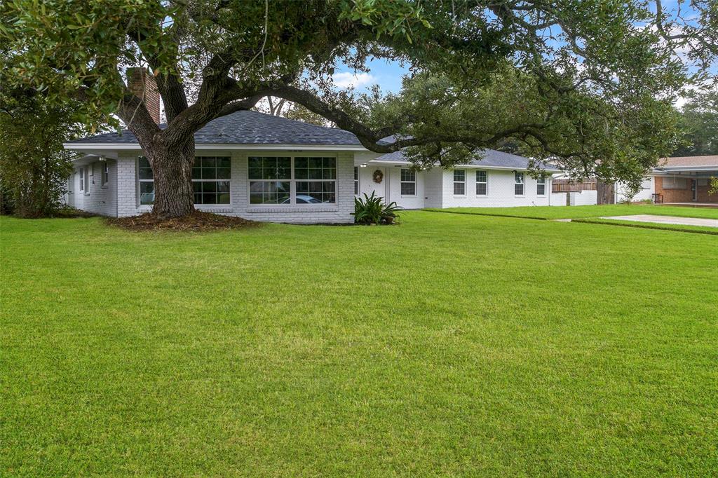
[[[680,207],[650,204],[600,206],[523,206],[523,207],[452,207],[428,209],[435,212],[460,212],[488,216],[535,217],[537,219],[577,219],[579,217],[658,214],[678,217],[718,219],[718,207]]]

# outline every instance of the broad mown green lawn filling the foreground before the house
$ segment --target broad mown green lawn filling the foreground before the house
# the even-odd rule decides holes
[[[3,476],[718,470],[712,235],[1,217],[0,253]]]

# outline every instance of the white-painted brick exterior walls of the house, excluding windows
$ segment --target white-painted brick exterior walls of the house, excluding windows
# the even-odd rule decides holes
[[[110,182],[106,188],[90,189],[90,195],[75,195],[75,206],[103,215],[127,217],[151,211],[149,205],[139,205],[137,182],[137,158],[142,151],[118,151],[116,161],[109,160]],[[217,214],[245,217],[250,220],[269,222],[294,223],[347,223],[353,222],[354,212],[354,166],[361,158],[355,159],[351,151],[303,152],[301,154],[331,155],[337,157],[337,203],[332,205],[251,205],[248,191],[248,157],[253,155],[294,155],[296,151],[246,151],[216,150],[198,151],[201,156],[230,156],[230,204],[198,205],[197,209]],[[99,187],[99,166],[95,167],[95,184],[90,188]],[[511,207],[528,205],[549,205],[551,196],[551,179],[546,179],[546,195],[536,194],[536,180],[524,177],[524,195],[513,194],[513,172],[488,169],[488,195],[477,196],[475,171],[466,171],[466,195],[454,196],[453,171],[433,168],[416,174],[416,196],[401,197],[401,167],[382,165],[385,179],[381,185],[373,184],[371,175],[378,167],[360,168],[360,190],[381,189],[382,196],[388,195],[389,201],[396,201],[406,209],[421,207]],[[90,177],[90,183],[92,182]],[[74,184],[79,183],[78,174],[74,175]],[[79,190],[78,187],[75,187]],[[565,205],[565,200],[561,201]]]

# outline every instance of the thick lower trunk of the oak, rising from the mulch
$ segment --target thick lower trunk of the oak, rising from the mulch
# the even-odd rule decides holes
[[[154,144],[146,149],[154,176],[152,212],[162,218],[182,217],[195,210],[192,192],[192,164],[195,139],[182,144]]]

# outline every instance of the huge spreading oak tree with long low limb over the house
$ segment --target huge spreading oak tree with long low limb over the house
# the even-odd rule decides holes
[[[635,182],[676,139],[681,65],[654,17],[642,0],[9,0],[0,80],[121,118],[162,216],[193,209],[193,133],[265,96],[422,165],[512,141],[576,176]],[[337,64],[370,57],[409,65],[400,93],[334,87]],[[166,128],[126,88],[131,66],[157,79]]]

